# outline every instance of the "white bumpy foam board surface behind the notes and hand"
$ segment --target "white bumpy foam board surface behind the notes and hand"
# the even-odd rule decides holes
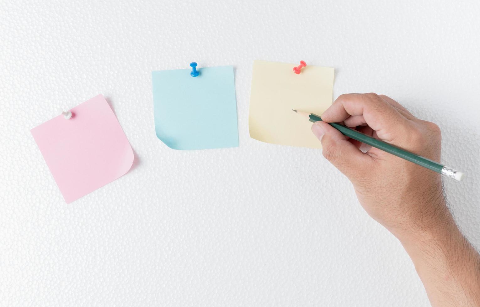
[[[252,60],[334,67],[441,126],[480,247],[480,2],[359,2],[1,0],[0,306],[428,306],[320,151],[248,135]],[[156,138],[151,70],[192,61],[234,65],[240,148]],[[98,93],[135,163],[66,205],[29,130]]]

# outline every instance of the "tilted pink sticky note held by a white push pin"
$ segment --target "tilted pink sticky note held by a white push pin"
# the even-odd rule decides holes
[[[112,109],[98,95],[31,130],[67,204],[124,175],[133,151]]]

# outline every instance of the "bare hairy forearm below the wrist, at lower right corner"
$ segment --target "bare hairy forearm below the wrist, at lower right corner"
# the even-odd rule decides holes
[[[451,216],[450,216],[451,218]],[[480,306],[480,256],[453,219],[417,236],[398,236],[432,306]]]

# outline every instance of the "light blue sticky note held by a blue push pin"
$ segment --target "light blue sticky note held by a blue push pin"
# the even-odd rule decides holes
[[[169,148],[238,147],[233,66],[152,72],[156,136]]]

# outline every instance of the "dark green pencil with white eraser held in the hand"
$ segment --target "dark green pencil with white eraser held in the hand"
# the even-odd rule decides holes
[[[300,112],[297,110],[292,110],[305,118],[308,118],[312,123],[321,121],[322,118],[318,115],[312,114],[312,113],[305,113],[305,112]],[[378,140],[372,136],[367,136],[364,133],[361,133],[357,130],[354,130],[352,128],[349,128],[344,125],[340,125],[337,123],[328,123],[329,125],[333,126],[335,129],[340,131],[343,135],[348,136],[350,138],[353,138],[354,140],[360,141],[362,143],[365,143],[367,145],[370,145],[372,147],[382,149],[383,151],[386,151],[388,153],[391,153],[392,155],[395,155],[397,157],[406,159],[410,162],[413,162],[417,165],[423,166],[429,170],[436,171],[437,173],[440,173],[442,175],[445,175],[447,177],[453,178],[457,181],[461,181],[464,177],[464,174],[461,171],[456,171],[452,169],[451,167],[444,166],[438,162],[435,162],[431,159],[427,159],[422,156],[418,156],[416,154],[413,154],[411,152],[408,152],[406,150],[400,149],[398,147],[395,147],[393,145],[390,145],[388,143],[385,143],[384,141]]]

